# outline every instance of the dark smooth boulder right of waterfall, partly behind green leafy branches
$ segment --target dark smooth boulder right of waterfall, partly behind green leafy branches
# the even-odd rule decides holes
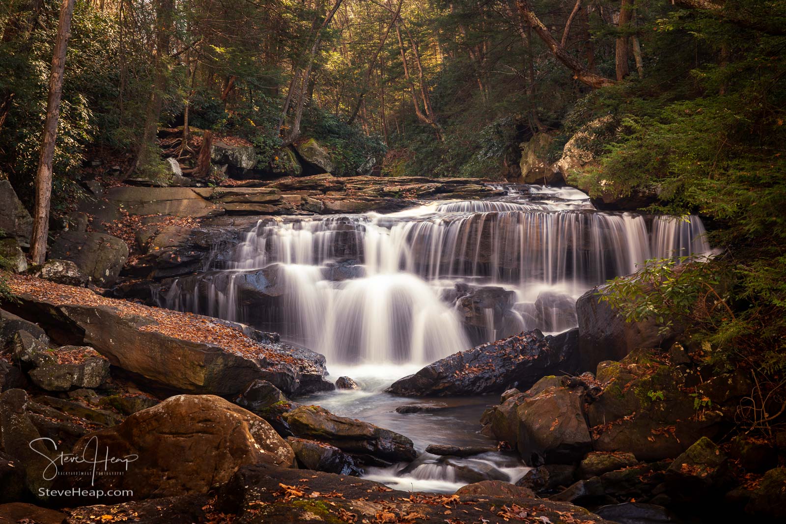
[[[599,292],[604,292],[602,286],[576,301],[582,369],[592,370],[601,361],[622,360],[637,348],[659,347],[666,342],[668,336],[659,332],[654,320],[626,322],[607,302],[599,302]]]

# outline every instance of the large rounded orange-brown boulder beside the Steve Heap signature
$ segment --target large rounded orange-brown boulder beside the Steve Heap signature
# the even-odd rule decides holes
[[[86,434],[74,453],[116,459],[94,484],[134,499],[207,493],[244,464],[293,467],[295,453],[270,424],[215,395],[178,395],[136,412],[116,427]],[[106,450],[106,451],[104,451]]]

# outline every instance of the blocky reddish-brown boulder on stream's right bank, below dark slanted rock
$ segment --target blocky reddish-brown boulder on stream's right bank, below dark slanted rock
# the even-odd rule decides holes
[[[530,464],[570,464],[592,448],[580,391],[549,387],[516,408],[516,447]]]

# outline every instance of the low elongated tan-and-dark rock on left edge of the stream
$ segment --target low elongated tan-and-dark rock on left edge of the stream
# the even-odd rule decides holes
[[[361,420],[333,415],[319,406],[301,406],[282,418],[297,437],[327,442],[346,453],[394,462],[417,456],[409,438]]]

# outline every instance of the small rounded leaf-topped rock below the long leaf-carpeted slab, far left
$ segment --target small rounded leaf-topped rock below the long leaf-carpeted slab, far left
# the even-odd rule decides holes
[[[42,362],[28,375],[46,391],[99,387],[109,378],[109,361],[89,346],[63,346],[54,351],[52,361]]]

